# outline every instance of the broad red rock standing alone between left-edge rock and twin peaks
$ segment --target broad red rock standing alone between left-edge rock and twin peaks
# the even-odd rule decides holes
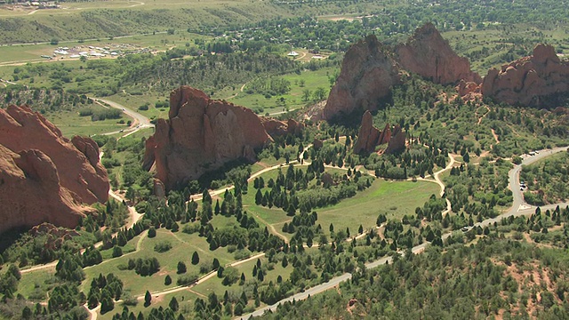
[[[168,119],[158,120],[146,142],[143,163],[146,169],[155,164],[156,178],[169,190],[232,160],[254,161],[254,151],[270,140],[252,110],[181,86],[170,94]]]

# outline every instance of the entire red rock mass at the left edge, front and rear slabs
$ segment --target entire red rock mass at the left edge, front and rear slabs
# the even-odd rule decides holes
[[[0,109],[0,232],[42,222],[73,228],[82,204],[108,200],[107,171],[90,138],[68,140],[27,106]]]

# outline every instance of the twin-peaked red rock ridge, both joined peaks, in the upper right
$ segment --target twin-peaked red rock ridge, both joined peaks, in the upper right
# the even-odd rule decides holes
[[[437,84],[457,84],[461,80],[480,83],[470,70],[469,60],[459,57],[437,28],[427,23],[417,28],[406,44],[389,52],[375,36],[352,45],[341,64],[341,74],[322,110],[313,120],[349,116],[355,110],[374,110],[389,96],[391,87],[401,82],[402,70],[417,73]]]

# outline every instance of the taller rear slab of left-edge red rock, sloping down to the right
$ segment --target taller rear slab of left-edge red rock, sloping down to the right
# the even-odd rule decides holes
[[[39,113],[27,106],[9,106],[0,109],[0,144],[16,153],[41,150],[59,168],[61,187],[67,188],[78,203],[108,200],[107,171],[99,162],[99,147],[91,138],[69,141]]]

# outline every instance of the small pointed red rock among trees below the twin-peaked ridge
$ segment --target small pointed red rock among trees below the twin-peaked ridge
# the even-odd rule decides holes
[[[387,143],[384,153],[390,154],[405,148],[405,132],[399,125],[391,127],[385,124],[382,131],[373,126],[373,117],[369,111],[365,111],[362,116],[362,124],[357,133],[357,140],[354,144],[354,153],[371,153],[375,147]]]

